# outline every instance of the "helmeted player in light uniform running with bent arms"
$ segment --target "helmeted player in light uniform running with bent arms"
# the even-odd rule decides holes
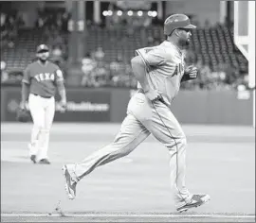
[[[131,63],[138,90],[129,101],[127,116],[114,142],[81,163],[63,167],[65,189],[70,199],[75,198],[77,183],[82,178],[96,167],[128,155],[150,134],[170,152],[171,188],[176,210],[184,212],[210,199],[209,195],[191,194],[185,185],[187,140],[171,111],[180,82],[196,77],[195,67],[184,68],[181,51],[190,43],[193,28],[195,26],[186,15],[171,15],[164,23],[166,41],[137,49],[137,56]]]

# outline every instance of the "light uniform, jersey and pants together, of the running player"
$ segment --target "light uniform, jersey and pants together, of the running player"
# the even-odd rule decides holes
[[[96,167],[128,155],[153,134],[169,150],[171,188],[174,190],[175,205],[180,207],[192,198],[185,185],[187,141],[170,106],[184,75],[183,54],[169,42],[141,48],[136,52],[147,65],[146,76],[150,86],[162,94],[169,106],[160,101],[152,102],[138,91],[128,104],[127,116],[114,142],[91,154],[81,163],[67,165],[67,168],[74,180],[82,180]],[[141,88],[140,84],[138,88]]]

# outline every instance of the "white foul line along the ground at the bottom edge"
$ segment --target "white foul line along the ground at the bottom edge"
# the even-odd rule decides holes
[[[20,217],[38,217],[38,216],[60,216],[60,214],[1,214],[1,216],[20,216]],[[68,217],[211,217],[211,218],[255,218],[250,214],[65,214]]]

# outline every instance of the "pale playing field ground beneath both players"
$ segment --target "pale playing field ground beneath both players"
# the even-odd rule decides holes
[[[33,164],[31,124],[1,124],[1,221],[254,222],[255,133],[251,127],[183,127],[188,138],[187,186],[210,202],[177,214],[169,188],[168,150],[149,137],[129,156],[96,169],[64,192],[64,163],[82,161],[110,143],[119,124],[54,123],[51,165]],[[58,201],[66,215],[53,212]],[[48,213],[53,212],[52,215]]]

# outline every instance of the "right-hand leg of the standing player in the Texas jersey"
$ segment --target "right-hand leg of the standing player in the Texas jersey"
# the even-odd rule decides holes
[[[44,98],[44,102],[45,102],[45,123],[39,136],[38,159],[40,160],[40,163],[48,164],[49,161],[47,157],[47,150],[49,145],[49,132],[50,132],[54,114],[55,114],[55,99],[54,97],[51,97],[49,99]]]

